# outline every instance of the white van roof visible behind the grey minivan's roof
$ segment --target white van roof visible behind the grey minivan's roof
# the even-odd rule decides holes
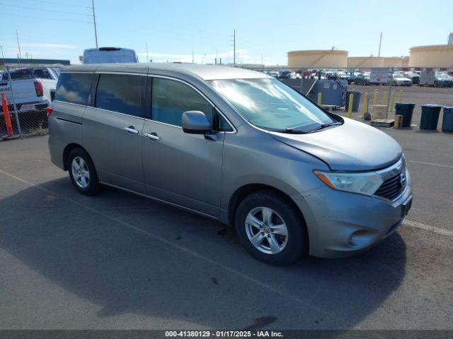
[[[134,49],[100,47],[84,50],[82,64],[123,64],[137,63],[139,58]]]

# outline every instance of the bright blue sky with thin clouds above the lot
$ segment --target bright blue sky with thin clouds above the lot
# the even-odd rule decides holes
[[[21,54],[69,59],[77,63],[85,48],[95,47],[91,0],[0,0],[0,45]],[[294,49],[348,50],[352,57],[408,55],[409,48],[445,44],[453,32],[453,1],[360,0],[95,0],[101,46],[135,49],[139,60],[232,61],[287,64]]]

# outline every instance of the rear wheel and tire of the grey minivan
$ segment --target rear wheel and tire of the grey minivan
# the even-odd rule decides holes
[[[81,148],[74,148],[69,153],[68,167],[71,182],[81,194],[92,196],[99,189],[98,174],[91,157]]]

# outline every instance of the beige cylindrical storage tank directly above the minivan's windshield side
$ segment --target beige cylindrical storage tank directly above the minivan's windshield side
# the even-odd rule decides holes
[[[288,52],[288,67],[301,69],[337,68],[348,64],[348,51],[338,49]]]

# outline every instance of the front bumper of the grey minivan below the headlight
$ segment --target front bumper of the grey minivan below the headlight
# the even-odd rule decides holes
[[[309,254],[340,258],[369,249],[403,222],[402,206],[412,198],[411,176],[395,201],[336,191],[328,186],[294,197],[309,232]]]

